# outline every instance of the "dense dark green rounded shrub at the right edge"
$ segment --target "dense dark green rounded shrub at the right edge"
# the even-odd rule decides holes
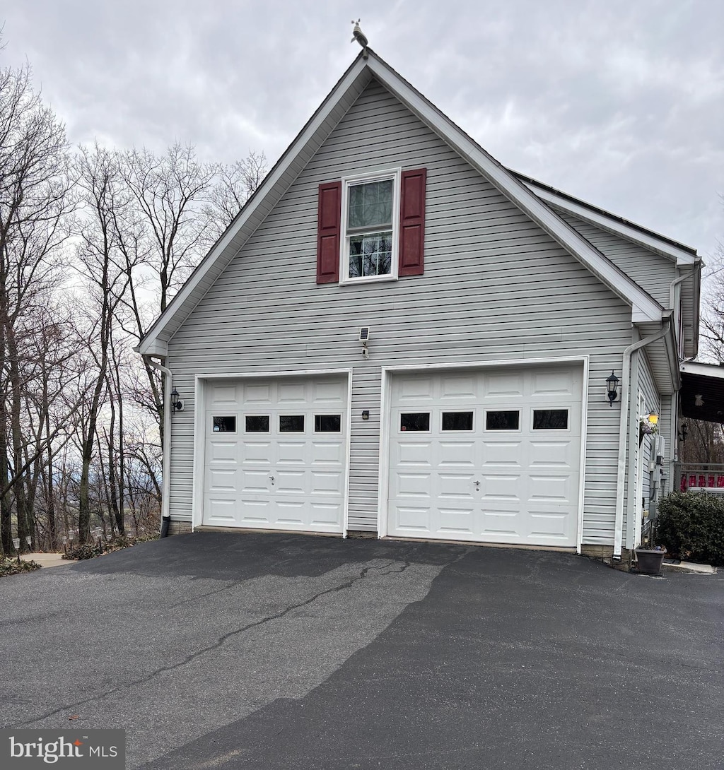
[[[724,565],[724,497],[668,494],[658,504],[656,541],[674,557]]]

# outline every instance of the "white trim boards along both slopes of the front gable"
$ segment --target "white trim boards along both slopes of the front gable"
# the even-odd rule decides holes
[[[234,219],[226,233],[217,241],[214,247],[207,253],[207,256],[201,261],[189,280],[184,284],[179,293],[173,297],[166,310],[161,313],[156,323],[140,341],[136,348],[139,353],[149,353],[151,350],[165,350],[167,340],[173,335],[165,333],[167,326],[173,327],[173,320],[177,319],[178,314],[184,314],[187,317],[190,313],[190,303],[195,306],[206,293],[204,288],[204,279],[209,270],[214,266],[217,259],[227,258],[230,260],[234,254],[225,253],[231,245],[234,237],[239,230],[248,223],[248,221],[258,212],[258,209],[264,206],[266,199],[274,198],[274,191],[278,192],[280,186],[291,186],[296,178],[296,173],[289,173],[294,166],[295,159],[307,146],[313,146],[315,135],[318,131],[324,129],[325,119],[334,111],[338,103],[344,98],[345,93],[352,88],[355,80],[368,70],[385,87],[396,95],[396,97],[409,107],[418,117],[426,122],[450,147],[459,152],[470,164],[485,176],[500,192],[503,192],[510,201],[516,204],[520,209],[527,213],[542,229],[553,237],[561,246],[564,246],[581,264],[586,266],[602,283],[608,286],[615,294],[621,297],[632,307],[632,321],[634,323],[646,321],[660,321],[663,308],[654,300],[652,296],[646,293],[641,286],[631,280],[621,269],[618,269],[614,263],[608,260],[598,249],[595,249],[583,236],[577,233],[571,226],[567,225],[560,216],[541,201],[534,192],[527,188],[522,182],[519,182],[514,174],[500,165],[497,160],[488,155],[480,146],[473,142],[460,128],[458,128],[449,118],[439,112],[423,95],[416,92],[415,89],[400,75],[398,75],[389,65],[379,59],[379,57],[367,49],[369,58],[362,58],[362,54],[349,67],[347,72],[342,75],[342,79],[335,85],[332,92],[328,95],[322,105],[312,116],[311,120],[302,129],[301,133],[291,143],[280,161],[274,166],[269,175],[262,182],[257,193],[252,197],[249,203],[244,206],[239,216]],[[326,139],[326,136],[324,136]],[[322,139],[322,141],[324,141]],[[318,142],[319,146],[321,142]],[[315,148],[316,150],[316,148]],[[278,199],[278,197],[277,197]],[[274,201],[275,203],[275,201]],[[267,203],[267,207],[271,208]],[[240,246],[237,246],[237,249]],[[236,250],[234,250],[234,253]],[[194,296],[196,295],[196,296]],[[193,306],[191,309],[193,309]]]

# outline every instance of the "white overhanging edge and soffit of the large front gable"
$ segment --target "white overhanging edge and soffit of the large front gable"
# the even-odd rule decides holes
[[[580,233],[564,222],[551,206],[490,156],[443,112],[413,88],[372,49],[360,52],[342,75],[332,92],[319,106],[301,132],[274,165],[241,212],[217,240],[190,278],[180,289],[156,323],[140,340],[136,351],[163,357],[167,343],[179,329],[207,290],[244,246],[281,196],[332,133],[342,116],[372,79],[380,82],[402,104],[460,154],[504,196],[518,206],[541,229],[587,267],[605,286],[631,306],[634,323],[660,322],[664,309],[645,290],[629,278],[591,245]]]

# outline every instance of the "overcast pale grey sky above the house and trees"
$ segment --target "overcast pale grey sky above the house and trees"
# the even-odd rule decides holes
[[[72,142],[274,162],[370,45],[500,162],[695,246],[724,240],[720,0],[23,0]]]

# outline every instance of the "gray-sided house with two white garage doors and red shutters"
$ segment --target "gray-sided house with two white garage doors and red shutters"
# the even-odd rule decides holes
[[[366,49],[137,349],[183,400],[170,531],[625,558],[675,456],[699,267],[506,169]]]

